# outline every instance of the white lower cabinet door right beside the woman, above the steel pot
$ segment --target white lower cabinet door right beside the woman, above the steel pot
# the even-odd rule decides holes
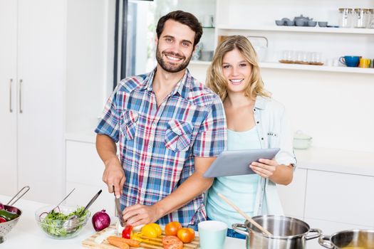
[[[303,219],[307,172],[307,169],[296,169],[291,184],[277,186],[286,216]]]

